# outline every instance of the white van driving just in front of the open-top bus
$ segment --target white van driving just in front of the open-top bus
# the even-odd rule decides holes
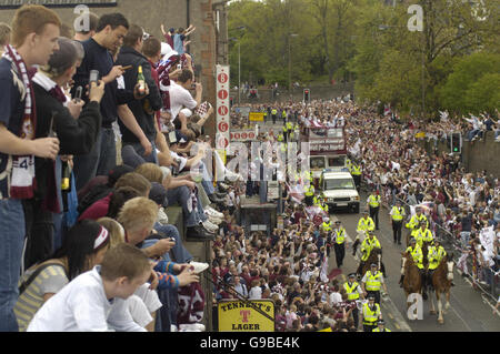
[[[349,172],[324,170],[321,173],[319,188],[329,208],[346,208],[359,213],[360,198]]]

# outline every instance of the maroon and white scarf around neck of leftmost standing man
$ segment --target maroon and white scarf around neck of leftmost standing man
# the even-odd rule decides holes
[[[26,140],[33,140],[37,128],[37,113],[34,110],[34,92],[31,78],[36,70],[28,71],[21,55],[12,45],[6,45],[3,57],[9,60],[17,74],[21,77],[23,88],[18,87],[21,100],[24,100],[24,115],[19,136]],[[12,73],[13,75],[16,73]],[[17,78],[13,78],[16,80]],[[12,156],[12,178],[10,184],[10,198],[30,199],[34,195],[34,155]]]

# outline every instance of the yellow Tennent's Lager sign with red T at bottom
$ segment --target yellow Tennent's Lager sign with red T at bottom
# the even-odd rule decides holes
[[[274,332],[271,300],[219,302],[219,332]]]

